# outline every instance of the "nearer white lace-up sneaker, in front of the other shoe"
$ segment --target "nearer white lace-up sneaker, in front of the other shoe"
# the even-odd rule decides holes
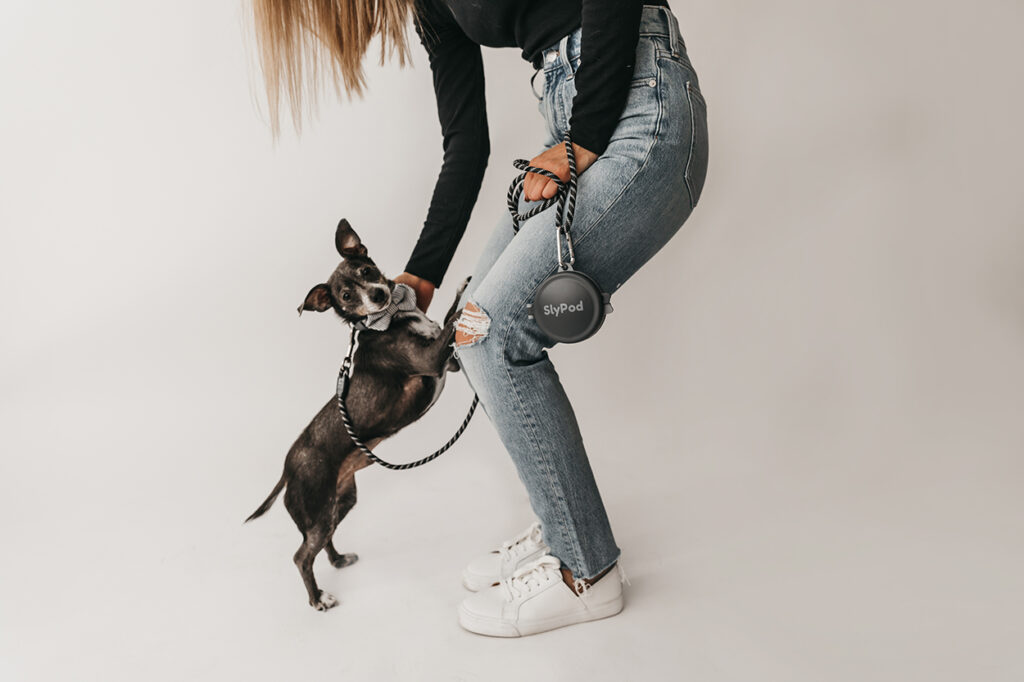
[[[624,574],[618,564],[577,594],[562,581],[557,557],[545,554],[498,585],[459,605],[459,625],[478,635],[522,637],[623,610]]]

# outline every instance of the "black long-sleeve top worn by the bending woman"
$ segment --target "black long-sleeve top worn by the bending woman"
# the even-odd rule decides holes
[[[667,0],[416,0],[433,73],[444,160],[406,271],[440,286],[476,203],[490,144],[480,46],[542,52],[582,27],[572,141],[600,155],[626,105],[643,5]]]

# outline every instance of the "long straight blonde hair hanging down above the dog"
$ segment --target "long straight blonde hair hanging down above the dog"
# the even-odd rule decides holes
[[[381,63],[397,53],[409,59],[406,27],[414,0],[253,0],[256,43],[266,85],[270,128],[281,131],[287,98],[296,130],[315,108],[325,81],[335,92],[362,96],[362,57],[381,37]],[[415,12],[413,12],[415,14]]]

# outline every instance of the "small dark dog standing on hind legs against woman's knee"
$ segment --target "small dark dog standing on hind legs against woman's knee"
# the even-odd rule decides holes
[[[334,308],[354,324],[386,310],[395,283],[377,269],[347,220],[338,224],[335,246],[341,264],[327,283],[309,291],[299,313]],[[466,283],[449,309],[443,329],[417,308],[395,313],[386,331],[359,332],[346,406],[355,432],[371,450],[422,417],[440,394],[445,373],[458,370],[452,351],[459,297],[465,287]],[[288,486],[285,506],[302,531],[295,564],[316,610],[338,603],[316,587],[312,567],[321,550],[327,551],[337,568],[358,559],[355,554],[338,552],[333,536],[355,505],[355,472],[370,464],[345,431],[332,396],[288,452],[285,471],[270,496],[246,519],[261,516]]]

